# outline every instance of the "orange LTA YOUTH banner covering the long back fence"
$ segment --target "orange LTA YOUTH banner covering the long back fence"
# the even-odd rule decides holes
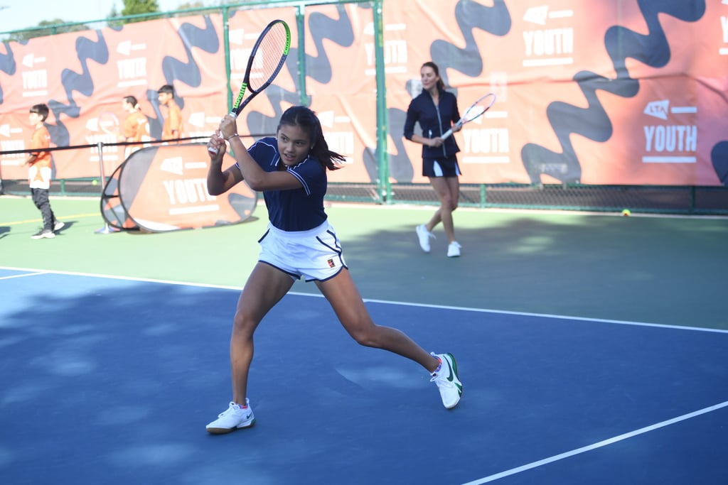
[[[381,45],[389,180],[426,183],[422,145],[403,138],[405,112],[432,60],[461,113],[498,99],[454,135],[462,183],[723,185],[728,180],[728,4],[705,0],[383,1]],[[0,151],[22,150],[28,108],[48,103],[56,146],[110,143],[138,98],[158,138],[173,84],[183,136],[207,136],[237,95],[253,42],[272,18],[291,27],[288,62],[239,131],[268,135],[290,105],[319,113],[347,157],[337,182],[379,180],[376,44],[370,4],[240,9],[132,23],[0,45]],[[298,25],[304,31],[298,32]],[[299,37],[304,46],[299,45]],[[304,49],[304,52],[301,52]],[[301,78],[300,70],[304,76]],[[305,89],[303,86],[305,83]],[[127,155],[103,152],[108,175]],[[98,149],[54,153],[56,177],[98,176]],[[0,176],[23,179],[23,155]]]

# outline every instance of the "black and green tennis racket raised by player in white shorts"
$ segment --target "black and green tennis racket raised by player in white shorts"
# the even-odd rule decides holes
[[[261,35],[258,36],[253,50],[250,51],[248,67],[245,68],[245,76],[242,78],[240,93],[232,105],[230,116],[237,116],[266,87],[273,82],[288,57],[290,49],[290,28],[283,20],[273,20],[266,25]],[[249,93],[245,101],[242,100],[245,94]],[[212,153],[218,153],[215,148],[208,148]]]

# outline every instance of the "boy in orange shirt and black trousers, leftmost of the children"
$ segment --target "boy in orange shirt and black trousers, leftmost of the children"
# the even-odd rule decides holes
[[[43,215],[43,229],[31,236],[32,239],[53,239],[55,231],[60,231],[65,225],[55,218],[53,210],[50,207],[50,177],[51,177],[51,156],[49,151],[42,151],[43,148],[50,148],[50,133],[45,127],[44,121],[48,117],[50,110],[48,105],[33,105],[28,115],[28,120],[36,129],[31,138],[30,149],[38,149],[39,151],[31,151],[28,153],[28,159],[25,164],[28,165],[28,185],[31,188],[31,196],[33,204],[40,209]]]

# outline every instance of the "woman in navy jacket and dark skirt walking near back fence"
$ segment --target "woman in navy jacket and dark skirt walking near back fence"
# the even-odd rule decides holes
[[[422,93],[412,100],[407,108],[405,138],[422,143],[422,175],[430,178],[432,188],[440,201],[440,208],[427,224],[417,226],[419,245],[424,252],[430,252],[430,239],[434,239],[432,229],[440,222],[448,238],[448,257],[460,255],[460,244],[455,239],[452,212],[457,208],[460,192],[460,167],[456,153],[460,151],[454,137],[443,140],[448,129],[460,130],[454,124],[460,119],[457,98],[445,90],[440,78],[438,65],[427,62],[420,68]],[[419,122],[422,135],[414,133],[414,125]]]

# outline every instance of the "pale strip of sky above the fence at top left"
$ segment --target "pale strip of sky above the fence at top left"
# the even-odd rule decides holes
[[[176,10],[187,0],[157,0],[163,12]],[[124,7],[123,0],[0,0],[0,32],[36,27],[43,20],[60,18],[84,22],[106,18],[111,9]]]

